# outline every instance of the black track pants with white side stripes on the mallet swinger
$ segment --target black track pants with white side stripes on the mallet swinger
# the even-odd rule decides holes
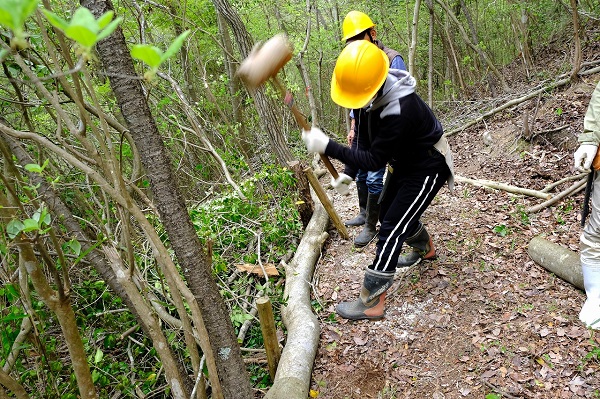
[[[416,232],[421,215],[450,176],[446,165],[436,169],[426,176],[388,174],[390,181],[384,189],[379,214],[381,227],[377,252],[370,269],[396,271],[402,244]]]

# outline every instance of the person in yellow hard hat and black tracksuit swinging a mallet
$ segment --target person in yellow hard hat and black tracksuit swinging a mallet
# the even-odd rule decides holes
[[[342,50],[331,80],[331,98],[336,104],[364,110],[366,121],[359,125],[358,133],[368,145],[359,144],[353,150],[330,140],[318,128],[302,132],[309,152],[357,169],[389,165],[375,259],[365,270],[359,298],[336,307],[338,315],[346,319],[384,316],[386,291],[392,285],[403,243],[419,234],[419,219],[442,186],[448,182],[453,187],[452,153],[442,125],[415,93],[415,79],[406,71],[389,69],[388,61],[376,45],[359,40]],[[344,176],[338,179],[347,180]]]

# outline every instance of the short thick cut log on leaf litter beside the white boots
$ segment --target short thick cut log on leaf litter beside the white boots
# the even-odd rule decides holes
[[[527,253],[535,263],[583,290],[579,254],[540,236],[529,241]]]

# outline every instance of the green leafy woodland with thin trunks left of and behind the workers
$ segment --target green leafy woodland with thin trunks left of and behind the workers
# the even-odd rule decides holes
[[[345,141],[328,93],[352,9],[452,134],[598,64],[595,0],[0,4],[0,396],[264,396],[256,300],[283,342],[314,205],[290,165],[314,160],[279,92],[235,71],[286,33],[279,79]]]

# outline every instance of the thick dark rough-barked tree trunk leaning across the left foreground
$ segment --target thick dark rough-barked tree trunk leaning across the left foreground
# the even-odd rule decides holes
[[[112,11],[110,0],[83,0],[96,17]],[[117,29],[97,45],[121,112],[151,181],[158,213],[175,255],[202,311],[225,398],[253,396],[229,312],[212,277],[211,259],[201,245],[171,170],[169,156],[133,67],[125,38]],[[217,356],[218,355],[218,356]],[[183,388],[182,388],[183,389]],[[189,393],[188,393],[189,395]]]

